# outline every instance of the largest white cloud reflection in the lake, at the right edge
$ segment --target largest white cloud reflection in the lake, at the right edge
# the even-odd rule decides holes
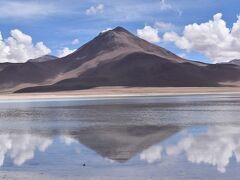
[[[240,161],[240,127],[209,127],[206,133],[185,137],[167,148],[168,155],[180,153],[186,153],[193,163],[210,164],[225,172],[231,157]]]

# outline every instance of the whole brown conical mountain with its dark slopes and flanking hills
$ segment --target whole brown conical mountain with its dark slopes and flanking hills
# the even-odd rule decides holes
[[[10,64],[0,70],[0,90],[17,92],[97,86],[207,87],[237,81],[240,81],[237,66],[183,59],[122,27],[100,33],[57,61]]]

